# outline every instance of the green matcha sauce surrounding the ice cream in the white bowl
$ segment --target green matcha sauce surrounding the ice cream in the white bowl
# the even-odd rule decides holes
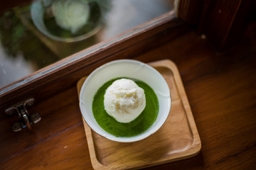
[[[126,77],[120,77],[117,79],[130,79]],[[107,88],[117,79],[112,79],[103,84],[103,86],[96,92],[93,102],[92,102],[92,113],[97,121],[98,125],[116,137],[134,137],[142,134],[148,130],[151,125],[156,121],[157,115],[159,113],[159,101],[154,93],[153,89],[143,81],[137,79],[131,79],[139,87],[144,89],[146,97],[146,107],[144,111],[132,122],[129,123],[119,123],[114,120],[110,115],[107,114],[104,108],[104,95]]]

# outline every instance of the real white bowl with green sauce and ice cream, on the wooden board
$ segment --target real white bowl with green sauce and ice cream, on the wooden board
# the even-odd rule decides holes
[[[149,137],[164,125],[170,109],[164,77],[137,60],[114,60],[98,67],[80,91],[80,111],[87,125],[116,142]]]

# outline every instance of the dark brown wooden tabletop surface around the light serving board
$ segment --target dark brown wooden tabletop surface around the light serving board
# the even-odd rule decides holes
[[[193,29],[142,55],[142,62],[176,63],[201,137],[190,159],[147,169],[255,169],[256,39],[215,52]],[[254,33],[254,35],[252,35]],[[92,169],[74,86],[36,103],[43,119],[33,131],[11,132],[1,122],[0,169]],[[8,120],[8,119],[7,119]],[[7,133],[8,132],[8,133]]]

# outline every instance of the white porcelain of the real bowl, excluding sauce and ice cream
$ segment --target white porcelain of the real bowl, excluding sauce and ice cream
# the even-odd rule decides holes
[[[115,137],[100,128],[100,125],[97,124],[93,116],[92,101],[97,90],[107,81],[118,77],[129,77],[144,81],[151,86],[159,100],[159,114],[155,123],[141,135],[134,137]],[[161,128],[169,115],[170,109],[170,90],[164,77],[153,67],[136,60],[115,60],[102,65],[87,77],[80,91],[80,111],[87,125],[99,135],[117,142],[135,142],[149,137],[149,135]]]

